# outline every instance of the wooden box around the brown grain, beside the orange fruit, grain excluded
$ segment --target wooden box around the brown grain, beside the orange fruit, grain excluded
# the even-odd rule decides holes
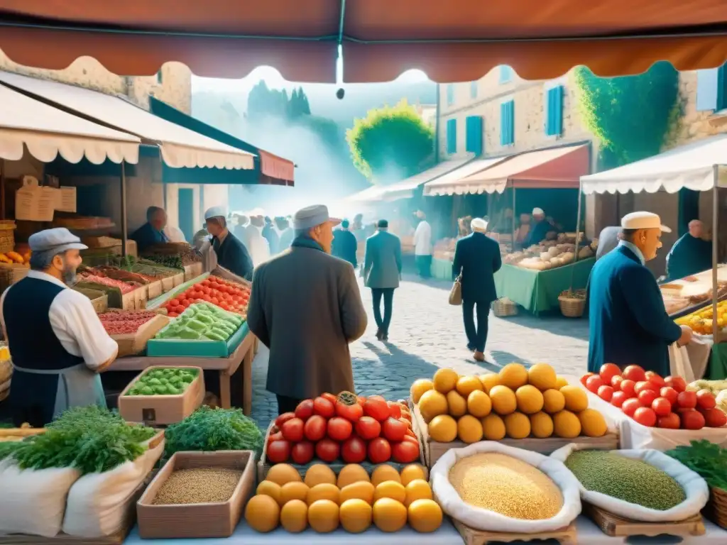
[[[139,535],[153,538],[227,538],[255,491],[252,451],[177,452],[157,473],[137,503]],[[241,469],[233,495],[220,504],[154,505],[156,494],[175,469],[218,467]],[[1,544],[0,544],[1,545]]]

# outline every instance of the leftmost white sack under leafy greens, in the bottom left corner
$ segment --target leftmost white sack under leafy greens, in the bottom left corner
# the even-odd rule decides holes
[[[0,461],[0,534],[29,533],[52,538],[63,524],[65,498],[79,478],[77,469],[20,469]]]

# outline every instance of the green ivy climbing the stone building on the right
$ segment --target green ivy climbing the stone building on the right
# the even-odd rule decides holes
[[[600,78],[588,68],[575,70],[587,129],[601,142],[603,167],[612,168],[661,151],[678,104],[679,74],[656,62],[638,76]]]

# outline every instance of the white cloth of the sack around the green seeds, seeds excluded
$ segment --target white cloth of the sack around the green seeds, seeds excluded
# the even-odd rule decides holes
[[[571,443],[570,445],[559,448],[550,454],[550,457],[565,464],[566,459],[568,459],[571,453],[580,451],[583,448],[587,449],[588,446]],[[707,486],[707,481],[680,461],[673,459],[671,456],[667,456],[667,454],[652,449],[609,452],[624,456],[624,458],[641,460],[646,462],[646,464],[662,469],[662,471],[666,472],[667,475],[672,477],[684,489],[686,499],[671,509],[660,511],[659,509],[649,509],[643,505],[632,504],[600,492],[587,491],[579,481],[581,497],[589,504],[601,507],[601,509],[606,509],[608,512],[630,520],[639,520],[642,522],[674,522],[675,520],[688,519],[698,514],[710,498],[710,489]]]

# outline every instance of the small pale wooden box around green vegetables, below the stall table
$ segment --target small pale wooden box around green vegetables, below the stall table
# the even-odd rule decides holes
[[[181,369],[196,374],[193,381],[179,394],[129,395],[129,392],[145,382],[148,374],[163,369]],[[182,421],[199,408],[204,400],[204,373],[199,367],[151,366],[129,382],[119,395],[119,414],[127,422],[145,424],[174,424]]]

